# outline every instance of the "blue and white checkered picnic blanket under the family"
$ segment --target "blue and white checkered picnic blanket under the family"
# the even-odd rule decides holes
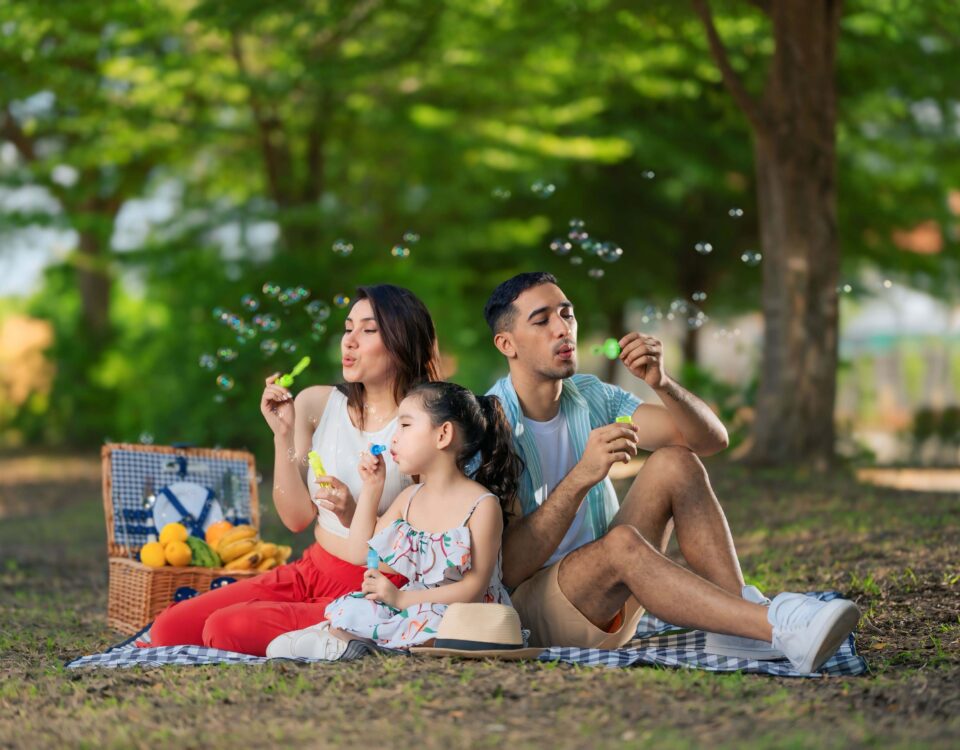
[[[821,601],[830,601],[840,596],[836,591],[813,591]],[[603,667],[631,667],[642,664],[664,667],[687,667],[708,672],[751,672],[779,677],[824,677],[834,675],[859,675],[867,671],[867,662],[857,655],[851,634],[821,668],[819,672],[804,674],[790,666],[790,662],[758,661],[718,656],[705,652],[706,635],[699,630],[679,630],[650,614],[645,614],[637,627],[638,641],[631,641],[630,648],[548,648],[539,657],[540,661],[562,661],[568,664],[584,664]],[[262,656],[238,654],[203,646],[161,646],[140,648],[136,641],[150,642],[150,626],[140,633],[118,643],[102,654],[81,656],[67,663],[69,669],[82,667],[159,667],[166,664],[265,664]],[[350,641],[341,661],[359,659],[373,653],[407,655],[405,651],[384,649],[373,641],[357,639]],[[298,659],[297,661],[313,661]]]

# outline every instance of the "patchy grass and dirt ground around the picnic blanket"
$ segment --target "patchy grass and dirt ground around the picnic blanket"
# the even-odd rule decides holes
[[[750,582],[857,601],[868,675],[396,658],[67,671],[120,640],[99,462],[0,458],[0,747],[957,747],[960,494],[708,469]],[[266,537],[306,545],[265,511]]]

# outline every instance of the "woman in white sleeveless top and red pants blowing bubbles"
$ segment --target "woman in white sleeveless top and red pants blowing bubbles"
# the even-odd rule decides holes
[[[440,379],[440,357],[427,308],[390,284],[357,290],[340,352],[340,385],[312,386],[293,399],[272,375],[260,401],[274,435],[274,505],[291,531],[316,521],[316,543],[295,563],[171,605],[154,622],[149,645],[263,656],[277,635],[320,622],[331,601],[360,589],[365,568],[343,559],[361,488],[360,455],[370,443],[390,443],[397,405],[413,386]],[[308,468],[310,450],[320,454],[328,476]],[[380,513],[410,481],[389,462]],[[391,580],[406,582],[399,575]]]

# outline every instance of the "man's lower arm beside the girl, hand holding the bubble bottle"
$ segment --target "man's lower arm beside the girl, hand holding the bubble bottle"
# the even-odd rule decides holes
[[[570,529],[580,503],[610,467],[637,455],[636,425],[611,424],[590,433],[583,456],[543,504],[511,522],[503,538],[503,582],[515,588],[550,558]]]

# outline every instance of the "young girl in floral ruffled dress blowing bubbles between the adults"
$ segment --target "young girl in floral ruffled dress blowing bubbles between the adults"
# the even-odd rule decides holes
[[[480,466],[468,478],[478,452]],[[383,456],[365,454],[347,553],[361,564],[373,550],[379,570],[367,570],[359,592],[334,600],[326,622],[279,636],[267,656],[334,660],[353,636],[408,648],[434,637],[448,604],[510,603],[500,582],[500,502],[516,492],[521,463],[500,402],[454,383],[419,385],[400,404],[390,454],[420,483],[378,520],[386,466]],[[409,583],[397,588],[391,573]]]

